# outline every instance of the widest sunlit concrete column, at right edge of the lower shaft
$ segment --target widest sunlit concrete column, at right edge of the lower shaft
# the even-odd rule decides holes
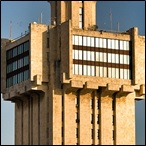
[[[116,145],[135,145],[134,93],[119,92],[116,95]]]

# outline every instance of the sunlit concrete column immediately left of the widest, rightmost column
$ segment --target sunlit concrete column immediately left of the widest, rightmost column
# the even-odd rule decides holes
[[[100,97],[100,138],[101,145],[112,145],[112,91],[102,89]],[[108,124],[107,124],[108,123]]]

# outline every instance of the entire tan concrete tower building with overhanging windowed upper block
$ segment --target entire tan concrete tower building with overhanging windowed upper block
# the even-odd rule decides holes
[[[15,103],[16,145],[135,144],[145,37],[98,30],[96,1],[49,1],[51,25],[1,49],[1,92]]]

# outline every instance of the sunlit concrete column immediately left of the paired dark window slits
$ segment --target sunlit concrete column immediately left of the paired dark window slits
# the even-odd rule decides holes
[[[91,145],[91,92],[80,92],[80,145]]]

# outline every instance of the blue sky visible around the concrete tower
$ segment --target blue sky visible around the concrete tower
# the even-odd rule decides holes
[[[145,35],[144,1],[98,1],[97,25],[99,29],[126,31],[138,27],[139,34]],[[2,1],[1,2],[1,38],[10,37],[12,21],[12,38],[15,39],[28,30],[31,22],[40,21],[50,24],[50,5],[47,1]],[[145,144],[145,100],[136,102],[136,144]],[[1,144],[14,145],[14,103],[1,98]]]

